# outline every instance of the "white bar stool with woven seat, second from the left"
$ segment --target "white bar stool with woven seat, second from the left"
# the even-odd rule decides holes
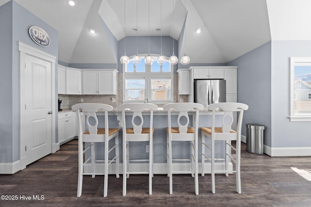
[[[121,126],[123,134],[123,196],[126,195],[126,179],[130,174],[149,174],[149,195],[152,194],[152,176],[153,176],[153,111],[157,109],[155,104],[151,103],[125,103],[118,106],[118,110],[122,111]],[[125,113],[130,110],[133,113],[131,124],[126,123]],[[150,110],[150,125],[143,127],[144,119],[142,111]],[[131,127],[132,128],[127,128]],[[129,142],[146,142],[149,141],[149,159],[130,159]],[[130,161],[149,161],[148,172],[129,172]]]

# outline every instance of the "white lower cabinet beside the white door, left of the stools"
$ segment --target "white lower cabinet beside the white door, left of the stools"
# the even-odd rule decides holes
[[[58,143],[62,144],[73,138],[77,133],[75,126],[74,112],[58,113]]]

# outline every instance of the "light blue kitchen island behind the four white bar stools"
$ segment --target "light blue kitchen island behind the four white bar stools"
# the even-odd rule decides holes
[[[132,113],[131,111],[127,112],[129,115]],[[149,116],[146,116],[149,114],[150,111],[143,111],[142,115],[144,117],[144,123],[143,127],[149,127],[150,119]],[[174,114],[175,113],[175,114]],[[177,112],[172,112],[173,119],[177,120]],[[192,115],[194,114],[194,110],[189,112],[189,126],[193,126],[192,124]],[[219,112],[221,115],[222,112]],[[99,119],[99,127],[104,127],[104,112],[97,112],[98,119]],[[109,127],[111,128],[117,128],[121,127],[121,111],[118,111],[117,109],[113,109],[113,111],[108,112],[109,118]],[[127,116],[127,115],[126,115]],[[219,116],[221,117],[221,116]],[[132,127],[130,116],[128,116],[128,119],[126,117],[126,125],[127,127]],[[217,116],[216,116],[217,118]],[[154,111],[154,120],[153,120],[153,127],[155,128],[154,135],[153,135],[153,141],[154,141],[154,174],[167,174],[167,142],[166,142],[166,127],[168,127],[168,117],[167,117],[167,111],[164,111],[163,108],[159,108],[158,110]],[[176,125],[172,127],[178,127],[177,121],[175,122]],[[221,120],[217,120],[217,123],[221,123]],[[208,111],[207,109],[200,111],[199,116],[199,127],[209,127],[211,126],[211,111]],[[199,173],[201,173],[202,167],[201,167],[201,158],[202,158],[202,145],[201,145],[201,130],[199,128],[199,134],[198,134],[198,161],[199,161]],[[208,138],[206,139],[206,143],[208,144]],[[122,129],[119,132],[119,143],[122,143]],[[113,142],[109,143],[109,145],[113,146]],[[149,142],[138,142],[138,143],[130,143],[130,159],[149,159],[149,153],[148,153],[148,145]],[[216,158],[225,158],[225,148],[224,148],[224,142],[216,142]],[[109,147],[111,147],[109,146]],[[120,162],[122,162],[122,144],[120,144]],[[95,159],[103,159],[104,158],[104,144],[102,143],[96,143],[96,155]],[[207,153],[208,155],[208,153]],[[86,154],[86,157],[88,157],[89,154]],[[113,158],[115,155],[111,153],[111,158]],[[110,158],[110,157],[109,157]],[[178,142],[173,144],[173,158],[180,158],[180,159],[189,159],[190,158],[190,143],[189,142]],[[174,168],[178,169],[180,171],[183,171],[185,169],[190,168],[190,163],[180,161],[173,163]],[[109,168],[109,173],[114,172],[114,163],[112,163],[111,167]],[[140,168],[142,171],[147,169],[148,162],[146,163],[133,163],[131,162],[129,165],[129,169],[137,169]],[[207,173],[210,172],[210,163],[206,162],[205,167],[207,169]],[[215,164],[216,169],[222,170],[225,168],[224,162],[217,162]],[[232,164],[229,165],[230,168],[232,168]],[[120,173],[122,172],[122,164],[120,164]],[[91,167],[86,166],[86,171],[91,170]],[[104,165],[102,163],[96,164],[96,171],[103,172]],[[178,171],[179,171],[178,170]],[[146,170],[145,170],[146,171]]]

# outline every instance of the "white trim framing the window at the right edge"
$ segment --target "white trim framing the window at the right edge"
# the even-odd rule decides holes
[[[290,116],[291,122],[310,122],[311,115],[294,115],[294,70],[296,65],[310,65],[311,57],[290,58]]]

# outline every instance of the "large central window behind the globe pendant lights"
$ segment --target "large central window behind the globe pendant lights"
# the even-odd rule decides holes
[[[156,57],[152,65],[146,65],[141,58],[141,64],[130,60],[123,65],[123,102],[144,102],[145,98],[153,103],[172,102],[173,66],[168,62],[157,64]]]

